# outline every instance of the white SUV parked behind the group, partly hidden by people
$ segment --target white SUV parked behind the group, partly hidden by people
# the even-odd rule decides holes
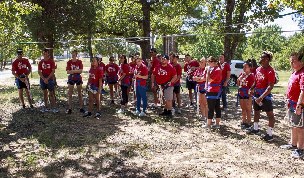
[[[242,72],[244,72],[243,71],[244,62],[245,61],[237,61],[237,60],[230,62],[231,76],[228,81],[229,86],[235,86],[237,84],[238,77]],[[279,82],[279,75],[278,72],[275,71],[275,84],[278,84],[278,82]]]

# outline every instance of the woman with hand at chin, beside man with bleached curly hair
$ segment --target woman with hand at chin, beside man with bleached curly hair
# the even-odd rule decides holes
[[[252,108],[252,97],[249,97],[248,91],[250,89],[250,86],[252,86],[254,82],[254,75],[250,72],[251,70],[251,62],[246,61],[243,64],[243,70],[237,79],[237,86],[239,87],[237,97],[240,99],[240,105],[242,108],[242,117],[243,121],[238,124],[237,126],[240,126],[243,130],[251,129],[251,108]],[[237,100],[237,106],[238,106],[238,100]],[[247,122],[246,122],[247,117]]]

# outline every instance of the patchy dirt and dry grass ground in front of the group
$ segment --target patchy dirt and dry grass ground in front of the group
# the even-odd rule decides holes
[[[133,116],[130,108],[123,115],[115,114],[119,104],[108,104],[108,87],[102,117],[84,119],[78,113],[76,90],[72,114],[67,114],[66,80],[57,82],[57,114],[40,113],[42,106],[20,110],[16,87],[4,86],[10,81],[0,83],[0,177],[304,176],[303,159],[292,159],[292,151],[279,148],[290,141],[290,127],[284,123],[285,96],[273,96],[275,140],[264,143],[259,139],[268,131],[266,114],[260,120],[262,133],[246,135],[236,126],[241,109],[235,107],[235,95],[227,95],[229,110],[222,110],[221,128],[208,131],[200,127],[196,108],[186,107],[185,90],[182,113],[171,120],[149,110],[142,118]],[[8,98],[7,92],[15,96]],[[38,86],[33,86],[33,94],[35,103],[42,99]],[[147,96],[149,107],[152,93]]]

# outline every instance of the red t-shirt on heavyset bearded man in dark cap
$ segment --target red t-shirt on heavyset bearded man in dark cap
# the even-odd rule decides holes
[[[153,72],[153,75],[156,76],[156,83],[157,84],[163,84],[169,82],[174,75],[176,75],[176,70],[172,65],[166,65],[163,67],[161,64],[157,65]],[[171,86],[174,85],[174,82],[171,84]]]

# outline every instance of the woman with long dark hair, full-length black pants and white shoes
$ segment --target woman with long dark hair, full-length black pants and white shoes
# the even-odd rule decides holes
[[[122,95],[122,101],[121,101],[121,108],[116,112],[116,114],[122,114],[125,111],[128,110],[128,95],[127,95],[127,90],[130,84],[129,80],[129,73],[130,73],[130,68],[127,62],[127,57],[125,54],[122,54],[119,57],[119,60],[121,62],[121,65],[119,65],[119,79],[117,81],[118,85],[121,88],[121,95]]]

